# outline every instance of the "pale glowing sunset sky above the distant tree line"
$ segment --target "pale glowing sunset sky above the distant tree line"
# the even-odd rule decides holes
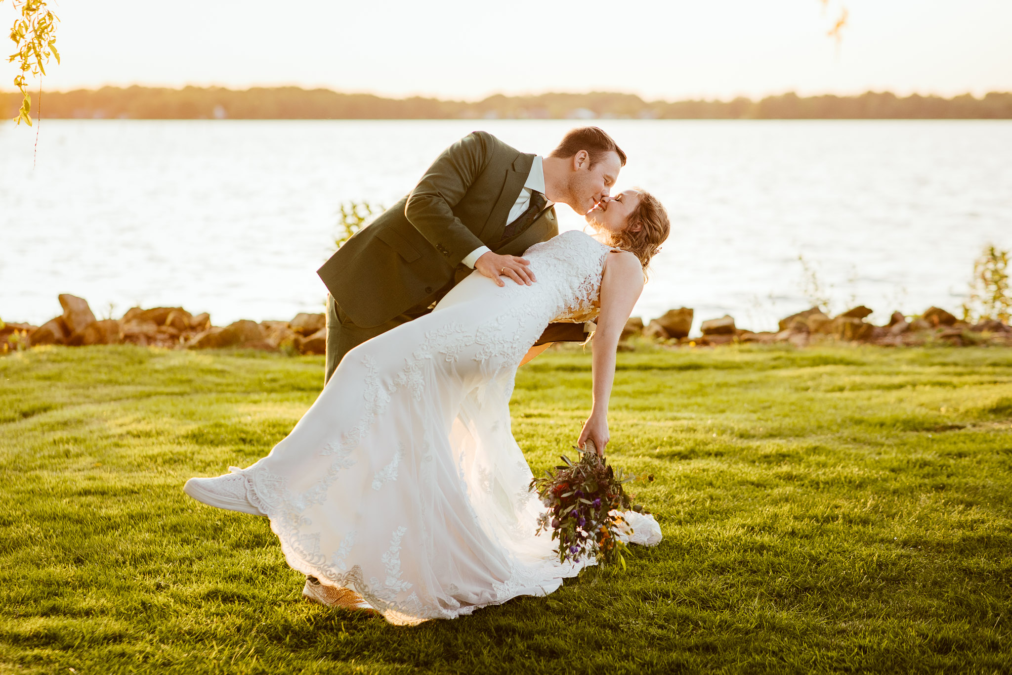
[[[841,5],[842,1],[842,5]],[[10,3],[0,5],[9,24]],[[50,90],[292,84],[391,96],[1012,90],[1009,0],[51,0]],[[826,36],[850,12],[838,45]],[[292,13],[291,8],[298,8]],[[10,90],[12,66],[0,66]]]

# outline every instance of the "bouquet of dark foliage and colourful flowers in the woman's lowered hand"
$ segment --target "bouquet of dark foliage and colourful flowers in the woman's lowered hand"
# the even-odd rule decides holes
[[[562,455],[565,465],[546,471],[543,478],[530,481],[530,490],[536,490],[541,503],[549,508],[537,521],[537,533],[553,529],[552,538],[559,539],[559,561],[596,556],[605,563],[618,563],[625,568],[623,553],[626,537],[632,528],[625,522],[621,511],[644,512],[642,506],[632,505],[632,496],[622,487],[635,480],[622,471],[610,467],[597,455],[594,444],[587,441],[587,449],[580,450],[579,461]],[[653,476],[649,480],[653,480]]]

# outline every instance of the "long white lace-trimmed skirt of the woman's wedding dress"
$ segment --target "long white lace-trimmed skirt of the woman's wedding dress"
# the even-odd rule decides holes
[[[499,287],[475,273],[351,350],[242,472],[293,569],[416,623],[551,593],[593,564],[560,564],[534,534],[543,507],[510,429],[517,365],[559,311],[551,270],[538,277]]]

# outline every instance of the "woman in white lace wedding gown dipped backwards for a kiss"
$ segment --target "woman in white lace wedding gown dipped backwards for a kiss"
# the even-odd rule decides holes
[[[270,454],[192,478],[186,494],[266,515],[288,565],[310,577],[307,594],[351,596],[392,623],[555,591],[593,561],[560,563],[551,535],[534,534],[544,507],[510,430],[516,369],[547,346],[531,348],[550,322],[596,318],[577,444],[602,453],[618,337],[670,231],[644,190],[586,218],[596,238],[564,232],[527,249],[535,283],[472,273],[430,314],[348,352]],[[653,518],[628,515],[630,540],[660,540]]]

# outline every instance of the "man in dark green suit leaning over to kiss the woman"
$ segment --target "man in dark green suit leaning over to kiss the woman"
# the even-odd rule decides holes
[[[574,129],[547,157],[488,132],[460,139],[415,188],[318,270],[327,298],[327,371],[355,346],[432,311],[473,269],[503,285],[534,282],[518,257],[559,234],[555,202],[583,216],[607,199],[625,153],[596,126]],[[583,341],[582,324],[552,324],[538,344]],[[326,382],[325,381],[325,382]]]

